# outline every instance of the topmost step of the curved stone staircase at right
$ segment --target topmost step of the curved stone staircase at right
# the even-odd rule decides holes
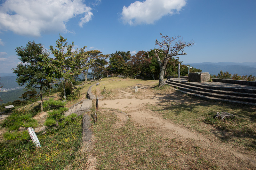
[[[176,83],[181,83],[185,85],[192,85],[196,87],[202,87],[202,88],[208,88],[212,90],[224,90],[224,91],[231,91],[231,92],[243,92],[243,93],[256,93],[256,88],[252,86],[245,86],[245,85],[230,85],[228,83],[223,83],[226,84],[226,86],[218,86],[214,85],[213,83],[190,83],[187,81],[178,81],[174,79],[169,79],[169,82],[176,82]]]

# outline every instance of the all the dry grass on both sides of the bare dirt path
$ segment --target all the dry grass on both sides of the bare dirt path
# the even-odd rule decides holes
[[[165,120],[205,137],[216,145],[210,143],[206,147],[200,141],[170,138],[165,133],[159,133],[156,127],[144,127],[132,120],[123,124],[119,122],[117,126],[115,110],[100,109],[99,122],[93,126],[96,137],[94,157],[98,160],[98,169],[252,168],[244,160],[233,159],[229,149],[232,147],[250,158],[256,156],[255,107],[203,101],[177,92],[170,86],[159,88],[156,86],[157,80],[131,80],[129,83],[118,80],[115,85],[112,85],[113,80],[108,81],[102,81],[101,87],[95,88],[94,92],[102,91],[106,86],[107,92],[101,94],[106,99],[118,99],[127,97],[124,92],[131,93],[134,86],[138,86],[139,92],[132,93],[132,98],[157,98],[161,101],[154,105],[148,103],[145,111],[162,115]],[[224,122],[213,119],[216,112],[223,111],[237,115],[236,119]],[[227,164],[222,159],[232,160]]]

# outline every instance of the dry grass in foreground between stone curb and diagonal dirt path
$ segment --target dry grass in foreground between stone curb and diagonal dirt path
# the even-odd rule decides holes
[[[169,139],[131,120],[116,126],[115,110],[100,109],[95,134],[97,169],[217,169],[192,141]]]

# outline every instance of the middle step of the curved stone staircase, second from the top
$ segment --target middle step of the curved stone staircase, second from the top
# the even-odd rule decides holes
[[[177,86],[180,86],[180,87],[189,88],[189,89],[192,89],[192,90],[198,90],[198,91],[202,91],[202,92],[210,92],[210,93],[216,93],[216,94],[226,94],[226,95],[239,96],[239,97],[256,98],[255,93],[243,93],[243,92],[233,92],[233,91],[225,91],[225,90],[213,90],[213,89],[210,89],[209,86],[205,86],[205,88],[203,88],[203,87],[193,86],[193,84],[178,83],[176,81],[166,81],[166,83],[171,84],[171,85],[177,85]]]

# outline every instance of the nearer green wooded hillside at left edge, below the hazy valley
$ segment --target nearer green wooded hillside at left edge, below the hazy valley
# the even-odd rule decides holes
[[[22,100],[19,97],[24,93],[25,91],[23,89],[16,89],[16,90],[11,90],[8,92],[0,92],[0,103],[7,103],[9,101],[14,101],[14,100]]]

